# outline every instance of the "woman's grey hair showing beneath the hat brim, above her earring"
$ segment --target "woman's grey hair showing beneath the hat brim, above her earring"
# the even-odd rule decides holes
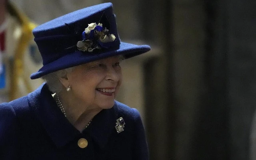
[[[63,70],[58,70],[42,76],[41,78],[48,84],[48,88],[52,93],[60,93],[63,88],[62,83],[59,78],[66,77],[67,73],[70,73],[74,70],[74,67],[66,68]]]

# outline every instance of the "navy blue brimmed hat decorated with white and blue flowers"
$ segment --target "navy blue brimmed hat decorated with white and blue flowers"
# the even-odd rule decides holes
[[[120,42],[112,3],[98,4],[46,22],[33,30],[43,67],[31,79],[103,58],[130,58],[150,46]]]

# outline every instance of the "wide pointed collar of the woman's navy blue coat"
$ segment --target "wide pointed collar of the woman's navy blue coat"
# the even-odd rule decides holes
[[[62,147],[79,136],[80,132],[70,124],[58,108],[47,84],[42,84],[28,95],[29,104],[34,108],[37,118],[57,147]],[[115,130],[116,103],[114,107],[102,110],[94,116],[91,124],[83,133],[89,134],[93,140],[104,148],[108,138]]]

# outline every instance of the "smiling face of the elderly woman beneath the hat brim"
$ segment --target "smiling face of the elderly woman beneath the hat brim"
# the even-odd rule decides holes
[[[108,109],[122,82],[119,56],[76,66],[67,74],[72,94],[90,109]]]

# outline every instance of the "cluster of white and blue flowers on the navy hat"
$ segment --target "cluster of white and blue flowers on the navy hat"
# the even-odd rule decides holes
[[[102,23],[90,23],[82,32],[82,40],[76,46],[83,52],[93,52],[95,49],[109,48],[114,44],[116,36],[109,34],[109,30],[102,27]]]

